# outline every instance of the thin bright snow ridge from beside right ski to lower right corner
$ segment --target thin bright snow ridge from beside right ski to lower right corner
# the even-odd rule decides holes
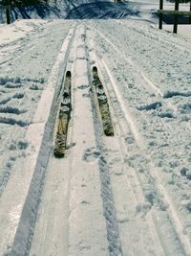
[[[102,66],[103,68],[105,69],[106,73],[107,73],[107,76],[109,77],[110,81],[111,81],[111,84],[113,85],[113,89],[115,91],[115,94],[116,94],[116,97],[117,97],[117,102],[119,103],[120,107],[121,107],[121,110],[123,111],[123,114],[124,114],[124,117],[126,119],[126,122],[127,124],[130,126],[130,129],[131,129],[131,132],[132,134],[134,134],[134,137],[135,137],[135,140],[137,142],[137,145],[138,147],[140,148],[140,153],[143,155],[143,157],[147,160],[147,165],[149,167],[149,170],[151,171],[152,170],[152,175],[151,175],[151,179],[153,179],[153,181],[155,180],[155,186],[157,186],[157,191],[159,191],[159,198],[162,196],[163,198],[163,201],[168,205],[168,208],[167,208],[167,213],[168,213],[168,216],[169,216],[169,221],[172,222],[172,225],[173,227],[175,228],[176,230],[176,233],[177,233],[177,236],[179,237],[180,239],[180,244],[183,245],[183,248],[184,248],[184,253],[185,255],[190,255],[191,254],[191,244],[187,238],[186,235],[184,235],[183,233],[183,226],[180,222],[180,218],[176,212],[176,209],[173,205],[173,202],[172,200],[169,198],[167,192],[165,191],[165,188],[164,186],[162,185],[162,180],[161,178],[159,177],[159,172],[157,170],[157,168],[155,167],[155,165],[153,164],[152,160],[149,158],[149,156],[146,156],[144,151],[145,151],[145,143],[144,143],[144,139],[141,137],[140,133],[138,132],[138,129],[136,128],[136,124],[135,124],[135,120],[133,120],[133,118],[131,117],[131,115],[126,115],[126,113],[129,112],[128,108],[126,107],[126,105],[123,104],[123,99],[122,97],[120,96],[120,92],[117,88],[117,84],[116,84],[116,81],[115,79],[113,78],[112,76],[112,73],[111,71],[109,70],[109,67],[106,63],[106,61],[104,59],[102,59]],[[119,122],[119,120],[118,120]],[[132,126],[132,123],[134,124],[134,126]],[[136,135],[135,136],[135,129],[136,128],[136,133],[138,133],[138,136]],[[138,138],[139,137],[139,138]],[[140,141],[141,141],[141,144],[140,144]],[[141,182],[140,182],[141,183]],[[142,186],[142,185],[141,185]],[[143,189],[144,190],[144,189]],[[157,225],[157,230],[159,232],[159,213],[156,212],[154,213],[154,217],[153,217],[153,220],[154,222],[156,223]],[[160,223],[162,224],[162,223]],[[164,235],[164,233],[163,233]],[[159,235],[160,237],[160,235]],[[164,239],[165,238],[161,238],[161,244],[165,244],[164,243]],[[163,241],[162,241],[163,240]],[[175,235],[175,241],[176,241],[176,235]],[[171,251],[171,248],[169,249],[166,249],[164,246],[166,246],[167,244],[163,245],[163,249],[165,251],[165,254],[166,255],[171,255],[169,253],[172,253],[170,252]],[[179,244],[176,244],[176,246],[179,246]],[[175,252],[177,250],[175,249]],[[182,254],[183,252],[180,252],[180,255],[184,255]],[[173,254],[172,254],[173,255]]]

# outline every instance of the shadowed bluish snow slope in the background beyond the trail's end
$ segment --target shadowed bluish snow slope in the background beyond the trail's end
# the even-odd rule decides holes
[[[172,4],[168,4],[172,6]],[[0,21],[6,22],[5,10],[0,6]],[[15,19],[86,19],[86,18],[143,18],[157,22],[156,11],[159,3],[154,1],[124,1],[114,3],[112,0],[50,1],[48,5],[36,5],[27,8],[12,8],[11,20]]]

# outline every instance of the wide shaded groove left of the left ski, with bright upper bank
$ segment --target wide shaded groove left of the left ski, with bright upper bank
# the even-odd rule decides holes
[[[43,125],[41,126],[41,134],[44,133],[44,135],[43,138],[41,137],[42,135],[40,135],[36,147],[35,156],[37,160],[32,161],[31,168],[34,169],[32,175],[32,182],[30,184],[28,195],[22,209],[20,221],[18,223],[14,241],[11,247],[10,255],[12,256],[28,255],[31,247],[33,235],[32,229],[36,221],[39,197],[42,193],[43,180],[46,173],[46,167],[48,164],[51,150],[49,147],[49,142],[52,139],[54,117],[53,112],[55,107],[54,105],[52,105],[52,102],[54,102],[57,98],[56,87],[61,86],[61,84],[56,84],[58,81],[57,77],[59,75],[59,72],[61,71],[60,68],[63,68],[62,65],[64,61],[66,60],[66,58],[68,58],[73,35],[74,29],[71,29],[66,39],[64,40],[64,43],[53,65],[53,69],[47,84],[47,89],[42,94],[41,100],[33,118],[33,122],[35,123],[32,125],[32,129],[29,129],[27,134],[27,137],[29,137],[32,141],[35,140],[34,137],[36,136],[36,134],[39,134],[39,131],[36,130],[38,129],[38,122],[44,121]],[[63,69],[65,69],[65,64]],[[47,102],[47,98],[49,98],[50,101]]]

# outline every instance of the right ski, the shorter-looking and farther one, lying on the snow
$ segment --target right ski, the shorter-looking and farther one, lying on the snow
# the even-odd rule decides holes
[[[106,136],[114,136],[114,127],[102,82],[98,77],[96,66],[93,67],[93,84],[96,87],[96,98],[99,106],[100,116],[102,120],[103,131]]]

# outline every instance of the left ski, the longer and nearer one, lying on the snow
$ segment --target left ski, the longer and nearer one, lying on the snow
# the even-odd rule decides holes
[[[56,134],[53,153],[55,157],[63,157],[66,151],[68,125],[71,119],[71,79],[70,71],[67,71],[64,81],[64,90],[61,95],[59,113],[57,117]]]

